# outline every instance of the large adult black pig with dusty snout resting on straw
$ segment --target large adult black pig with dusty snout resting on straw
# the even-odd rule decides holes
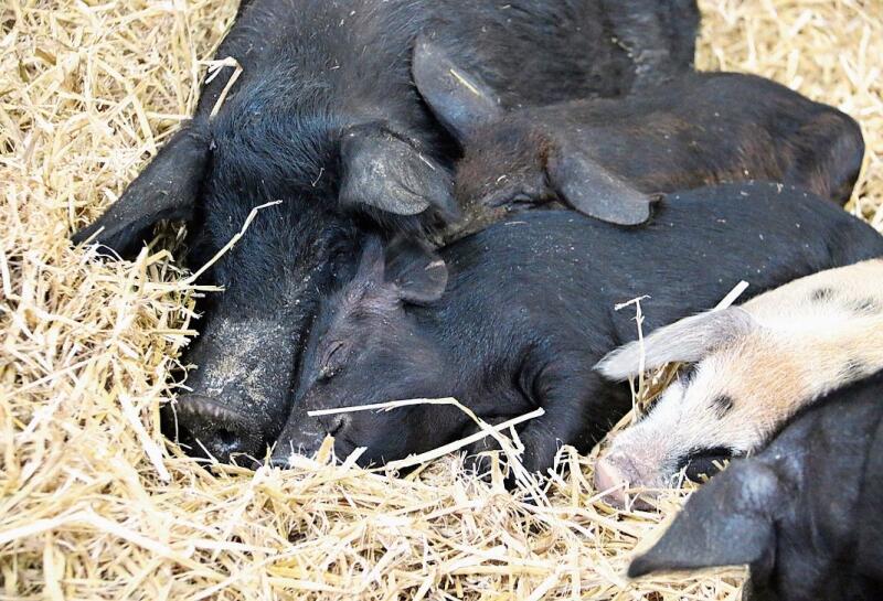
[[[262,453],[290,405],[316,301],[351,273],[364,235],[418,237],[456,214],[453,144],[412,82],[418,34],[518,106],[619,95],[658,73],[690,68],[696,23],[694,0],[240,7],[217,56],[234,57],[243,72],[216,115],[231,67],[203,87],[193,120],[123,197],[74,236],[127,254],[159,219],[184,219],[191,265],[199,266],[253,207],[284,201],[206,273],[226,291],[203,307],[202,336],[189,352],[199,369],[188,380],[193,395],[178,401],[182,439],[201,439],[222,460]]]

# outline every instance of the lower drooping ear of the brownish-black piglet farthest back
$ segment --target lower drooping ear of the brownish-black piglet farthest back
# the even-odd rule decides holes
[[[617,225],[642,224],[650,218],[651,205],[660,198],[635,190],[575,144],[562,144],[552,152],[546,175],[565,204]]]

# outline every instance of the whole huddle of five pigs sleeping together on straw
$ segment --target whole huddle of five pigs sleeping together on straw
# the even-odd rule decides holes
[[[74,235],[127,257],[187,222],[224,288],[168,436],[279,468],[331,436],[382,465],[481,428],[334,409],[455,397],[489,425],[542,409],[517,428],[542,475],[631,409],[624,380],[680,364],[598,492],[650,505],[733,461],[629,575],[748,564],[757,599],[877,599],[883,237],[842,210],[862,133],[695,72],[698,26],[693,0],[243,0],[216,53],[238,69]],[[643,294],[638,339],[615,305]],[[486,474],[500,439],[472,438]]]

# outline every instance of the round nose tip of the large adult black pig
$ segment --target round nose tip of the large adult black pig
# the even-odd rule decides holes
[[[180,442],[194,452],[228,462],[236,455],[260,458],[263,432],[248,416],[226,407],[220,399],[182,395],[171,409]]]

